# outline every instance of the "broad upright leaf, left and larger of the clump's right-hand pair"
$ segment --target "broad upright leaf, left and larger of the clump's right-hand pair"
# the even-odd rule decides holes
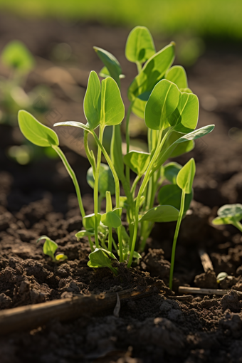
[[[162,130],[169,127],[168,119],[176,110],[180,91],[169,80],[161,80],[154,86],[144,110],[144,120],[152,130]]]

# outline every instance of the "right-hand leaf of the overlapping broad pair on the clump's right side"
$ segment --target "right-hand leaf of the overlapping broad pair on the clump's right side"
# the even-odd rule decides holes
[[[169,117],[169,124],[183,134],[196,129],[199,120],[199,99],[193,93],[181,93],[177,110]]]

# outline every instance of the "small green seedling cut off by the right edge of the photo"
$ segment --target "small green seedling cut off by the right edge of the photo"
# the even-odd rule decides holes
[[[242,232],[242,204],[226,204],[221,206],[216,217],[212,223],[216,226],[221,224],[233,224],[239,231]]]

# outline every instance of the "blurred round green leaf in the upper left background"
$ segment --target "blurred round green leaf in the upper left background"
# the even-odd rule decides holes
[[[31,52],[21,41],[9,42],[1,52],[1,61],[6,67],[15,68],[21,73],[30,72],[35,65]]]

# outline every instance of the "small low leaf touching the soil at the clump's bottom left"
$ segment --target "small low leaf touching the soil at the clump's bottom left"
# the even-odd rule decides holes
[[[90,259],[90,261],[88,261],[89,267],[92,268],[108,267],[110,268],[110,270],[112,270],[112,273],[117,275],[117,268],[112,267],[112,261],[117,262],[117,258],[112,252],[106,251],[104,248],[96,248],[95,251],[90,253],[89,259]]]

